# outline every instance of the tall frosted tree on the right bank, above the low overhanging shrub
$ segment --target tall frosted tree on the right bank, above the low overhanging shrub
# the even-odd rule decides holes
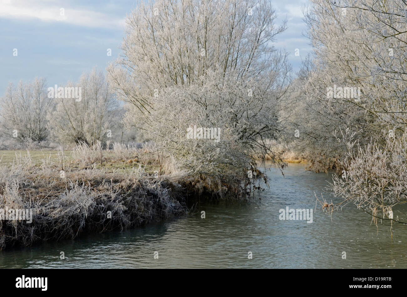
[[[389,125],[404,130],[407,15],[402,0],[311,0],[305,21],[313,55],[301,71],[297,124],[314,169],[324,171],[347,152],[339,128],[361,131],[360,144],[383,144]]]

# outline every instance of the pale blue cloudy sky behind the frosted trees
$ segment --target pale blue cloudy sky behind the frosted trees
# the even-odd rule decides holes
[[[310,50],[302,35],[301,8],[307,2],[271,0],[277,24],[288,21],[275,46],[290,52],[294,70]],[[45,77],[50,86],[63,85],[94,67],[104,70],[119,55],[132,9],[137,9],[133,0],[0,0],[0,97],[9,82]]]

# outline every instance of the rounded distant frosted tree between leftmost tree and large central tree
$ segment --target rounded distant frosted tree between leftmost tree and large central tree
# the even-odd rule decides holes
[[[53,99],[55,110],[49,112],[48,120],[54,138],[92,145],[96,140],[105,141],[118,134],[118,105],[103,72],[93,69],[84,73],[77,84],[68,82],[67,87],[81,88],[81,99]]]

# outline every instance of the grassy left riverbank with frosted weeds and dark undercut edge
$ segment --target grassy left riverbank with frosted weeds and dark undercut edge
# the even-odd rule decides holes
[[[6,212],[0,249],[75,238],[86,230],[131,228],[187,212],[182,187],[174,176],[156,174],[160,166],[148,148],[20,151],[12,160],[11,153],[0,151],[0,209]]]

